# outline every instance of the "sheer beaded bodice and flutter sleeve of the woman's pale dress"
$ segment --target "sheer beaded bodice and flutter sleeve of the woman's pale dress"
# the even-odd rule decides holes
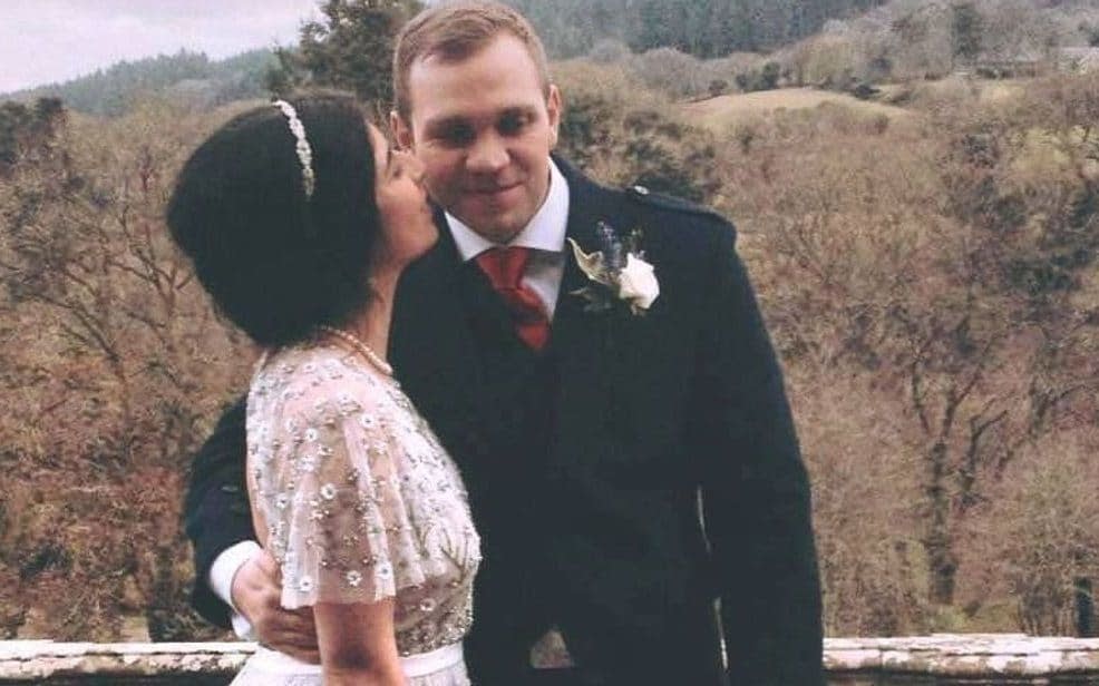
[[[364,587],[395,594],[395,620],[407,627],[397,630],[402,655],[456,643],[470,624],[476,565],[463,565],[447,546],[428,558],[418,542],[425,522],[445,521],[451,536],[470,539],[456,549],[476,550],[468,508],[454,500],[463,491],[457,470],[396,386],[359,379],[342,351],[324,352],[341,357],[330,365],[310,356],[315,369],[308,374],[303,360],[284,374],[271,365],[249,398],[254,496],[285,587],[319,601],[362,594]],[[300,351],[278,354],[301,360]],[[333,393],[330,371],[349,380],[341,391],[361,393]],[[292,400],[284,403],[279,395],[288,386]],[[421,492],[421,483],[430,486]]]

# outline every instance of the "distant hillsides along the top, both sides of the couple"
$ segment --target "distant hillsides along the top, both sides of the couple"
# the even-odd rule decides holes
[[[674,99],[937,80],[990,62],[1099,65],[1099,7],[1086,0],[506,1],[531,18],[555,60],[619,63]],[[266,49],[221,61],[181,51],[0,99],[54,96],[115,117],[153,95],[205,110],[266,97],[276,63]],[[767,107],[771,98],[759,101]]]

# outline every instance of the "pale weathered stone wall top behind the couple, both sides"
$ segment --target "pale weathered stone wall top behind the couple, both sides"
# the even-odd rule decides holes
[[[0,685],[223,685],[253,648],[247,643],[0,641]],[[829,638],[825,664],[830,686],[1099,686],[1099,639],[1003,634]]]

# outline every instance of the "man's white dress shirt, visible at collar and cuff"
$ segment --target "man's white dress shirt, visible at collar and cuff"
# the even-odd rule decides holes
[[[561,280],[565,275],[565,227],[568,225],[568,184],[561,169],[551,159],[550,192],[546,194],[545,202],[523,231],[506,245],[502,246],[485,238],[450,213],[447,213],[446,217],[463,262],[469,262],[494,247],[531,248],[531,262],[527,263],[523,275],[523,284],[538,295],[552,322],[557,306]],[[233,609],[233,631],[245,640],[256,640],[257,637],[249,620],[233,605],[233,578],[259,549],[260,545],[255,541],[241,541],[222,551],[210,567],[210,588]]]

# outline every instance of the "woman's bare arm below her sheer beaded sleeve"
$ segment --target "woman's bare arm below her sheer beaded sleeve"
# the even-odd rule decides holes
[[[403,686],[393,599],[313,608],[325,686]]]

